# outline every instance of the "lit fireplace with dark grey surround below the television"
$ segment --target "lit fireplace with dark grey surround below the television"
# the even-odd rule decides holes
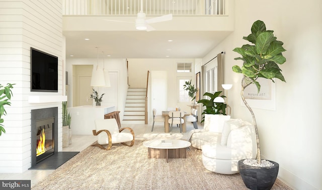
[[[31,111],[31,165],[58,152],[58,108]]]

